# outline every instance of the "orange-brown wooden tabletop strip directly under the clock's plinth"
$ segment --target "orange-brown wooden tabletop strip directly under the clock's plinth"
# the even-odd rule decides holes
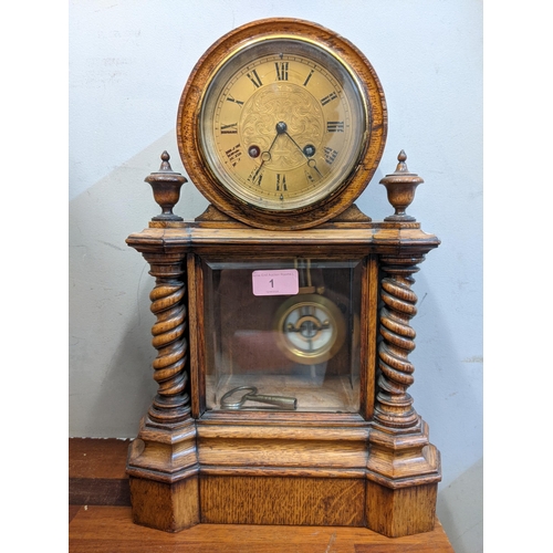
[[[364,528],[198,524],[180,533],[133,524],[131,508],[88,507],[69,526],[69,553],[455,553],[440,523],[386,538]]]

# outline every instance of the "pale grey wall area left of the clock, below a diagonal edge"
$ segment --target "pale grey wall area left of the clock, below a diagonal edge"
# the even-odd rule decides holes
[[[174,131],[112,170],[70,202],[70,436],[131,438],[157,385],[153,379],[149,292],[154,279],[125,239],[160,212],[144,181],[164,150],[184,173]],[[79,164],[73,164],[79,170]],[[207,201],[182,187],[175,212],[200,215]]]

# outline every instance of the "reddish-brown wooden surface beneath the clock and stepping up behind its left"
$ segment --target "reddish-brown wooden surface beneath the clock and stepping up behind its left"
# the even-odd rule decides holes
[[[199,524],[177,534],[133,524],[128,441],[70,439],[70,553],[455,553],[432,532],[389,539],[362,528]]]

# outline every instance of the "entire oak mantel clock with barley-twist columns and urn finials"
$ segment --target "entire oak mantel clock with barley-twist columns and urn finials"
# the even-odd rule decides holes
[[[384,92],[317,24],[240,27],[199,60],[178,106],[188,177],[209,200],[173,212],[186,178],[161,155],[161,213],[127,238],[156,279],[158,393],[129,448],[136,523],[434,529],[440,463],[408,388],[413,274],[439,240],[406,208],[355,206],[383,155]]]

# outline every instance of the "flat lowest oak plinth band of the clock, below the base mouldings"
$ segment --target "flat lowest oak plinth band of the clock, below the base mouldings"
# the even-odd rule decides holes
[[[437,483],[394,490],[352,478],[131,477],[133,521],[165,532],[198,523],[284,524],[367,526],[398,538],[434,530],[437,490]]]

